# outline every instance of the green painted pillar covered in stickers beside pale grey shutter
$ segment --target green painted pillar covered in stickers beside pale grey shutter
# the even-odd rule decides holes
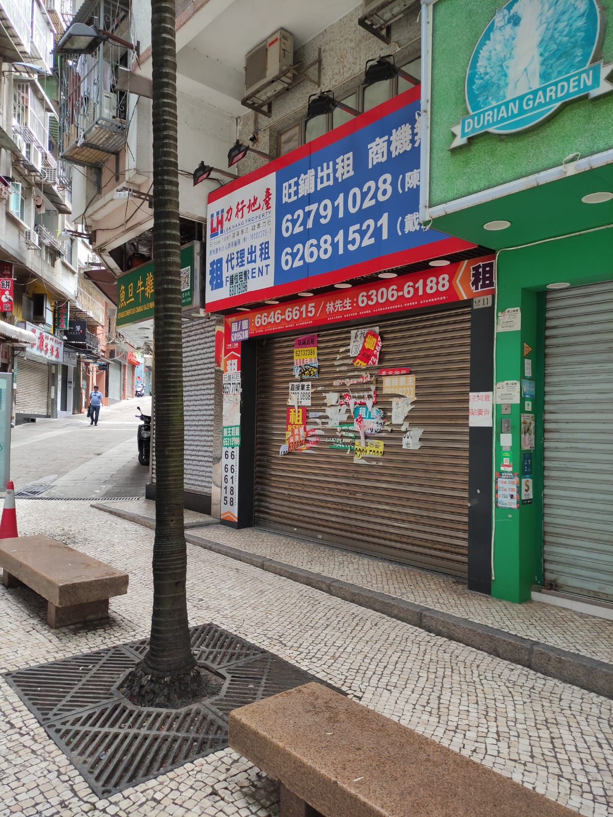
[[[535,583],[536,551],[537,548],[540,549],[540,537],[537,537],[535,529],[538,502],[535,494],[537,452],[529,450],[526,438],[522,449],[522,415],[524,420],[526,415],[533,415],[535,418],[535,448],[540,448],[536,441],[542,437],[542,407],[536,405],[539,389],[535,388],[535,397],[522,394],[522,380],[536,383],[537,377],[541,376],[536,371],[537,293],[529,289],[499,288],[499,321],[500,313],[517,307],[521,310],[521,328],[496,332],[495,382],[509,382],[506,391],[510,394],[513,389],[516,392],[518,390],[519,400],[507,404],[506,408],[504,404],[495,405],[495,531],[491,595],[519,602],[530,599],[531,586]],[[528,346],[531,350],[525,355]],[[529,361],[527,367],[526,360]],[[504,429],[504,421],[509,421],[509,431]],[[526,423],[524,425],[526,427]],[[528,478],[529,466],[532,479],[531,502],[527,497],[522,501],[522,493],[525,493],[523,489],[526,487],[522,477],[524,480]],[[511,467],[512,470],[504,470],[505,467]],[[512,501],[509,502],[508,481],[500,483],[503,490],[499,493],[499,477],[502,480],[517,479],[517,507],[500,507]]]

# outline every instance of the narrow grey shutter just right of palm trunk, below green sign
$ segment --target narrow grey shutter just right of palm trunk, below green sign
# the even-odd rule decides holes
[[[215,321],[203,319],[184,322],[182,335],[184,489],[209,494],[213,475]],[[153,482],[155,482],[154,455]]]

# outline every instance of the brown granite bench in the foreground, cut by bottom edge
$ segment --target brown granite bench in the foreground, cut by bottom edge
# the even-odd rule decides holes
[[[576,817],[321,684],[234,709],[229,743],[281,783],[281,817]]]

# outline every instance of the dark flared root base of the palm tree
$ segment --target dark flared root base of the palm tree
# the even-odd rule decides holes
[[[119,691],[137,707],[180,709],[219,694],[224,681],[203,667],[153,675],[144,661],[128,672]]]

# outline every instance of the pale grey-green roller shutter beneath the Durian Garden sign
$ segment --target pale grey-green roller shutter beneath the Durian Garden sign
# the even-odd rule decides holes
[[[544,578],[613,600],[613,281],[547,293]]]

